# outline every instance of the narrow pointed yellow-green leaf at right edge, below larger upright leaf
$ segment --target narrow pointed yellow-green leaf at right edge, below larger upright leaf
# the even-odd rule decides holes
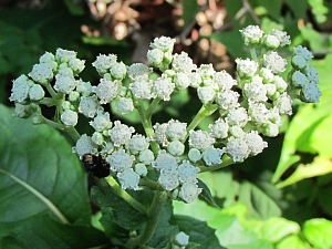
[[[291,184],[294,184],[301,179],[325,175],[331,172],[332,172],[332,163],[330,158],[317,156],[311,164],[299,165],[295,172],[286,180],[277,184],[277,187],[282,188]]]

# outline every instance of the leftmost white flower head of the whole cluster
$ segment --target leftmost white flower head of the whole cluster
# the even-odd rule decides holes
[[[28,76],[21,75],[12,83],[10,101],[22,103],[28,98],[30,86],[33,82],[29,80]]]

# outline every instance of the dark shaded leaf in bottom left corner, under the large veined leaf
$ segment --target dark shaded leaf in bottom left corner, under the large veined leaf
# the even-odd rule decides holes
[[[6,249],[82,249],[111,246],[102,231],[86,225],[61,224],[48,214],[23,220],[2,238],[0,245]]]

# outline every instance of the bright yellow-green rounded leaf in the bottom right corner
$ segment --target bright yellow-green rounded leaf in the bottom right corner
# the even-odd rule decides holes
[[[307,220],[303,234],[308,241],[315,248],[332,248],[332,221],[322,218]]]

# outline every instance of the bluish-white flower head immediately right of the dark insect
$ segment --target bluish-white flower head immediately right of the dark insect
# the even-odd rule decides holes
[[[132,168],[135,157],[128,155],[124,149],[120,148],[112,155],[106,157],[106,162],[110,164],[110,168],[113,172],[123,172],[126,168]]]

